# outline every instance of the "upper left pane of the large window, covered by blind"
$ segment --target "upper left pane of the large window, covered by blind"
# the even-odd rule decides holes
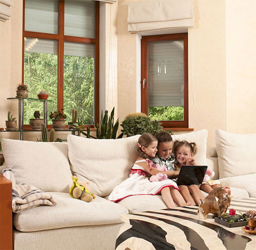
[[[43,33],[58,33],[57,0],[25,0],[25,30]]]

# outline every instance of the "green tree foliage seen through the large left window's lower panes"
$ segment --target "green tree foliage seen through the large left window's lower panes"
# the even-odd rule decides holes
[[[29,87],[29,97],[37,98],[41,90],[49,94],[48,114],[57,110],[58,56],[56,54],[25,52],[24,83]],[[94,58],[64,56],[64,109],[67,120],[72,121],[72,108],[78,118],[93,124],[94,115]],[[35,110],[43,113],[43,103],[24,102],[24,123],[28,124]],[[52,121],[48,117],[48,123]]]

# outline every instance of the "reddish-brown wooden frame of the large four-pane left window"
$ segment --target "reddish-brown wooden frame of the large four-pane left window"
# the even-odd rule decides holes
[[[58,40],[58,110],[64,105],[64,41],[95,44],[94,67],[94,123],[99,123],[99,2],[95,1],[95,38],[64,35],[64,0],[59,0],[58,34],[34,32],[25,30],[25,0],[23,0],[23,28],[22,28],[22,82],[24,83],[24,37]],[[93,125],[88,125],[93,127]],[[48,125],[51,127],[51,125]],[[67,125],[66,125],[67,127]],[[24,128],[30,128],[25,124]]]

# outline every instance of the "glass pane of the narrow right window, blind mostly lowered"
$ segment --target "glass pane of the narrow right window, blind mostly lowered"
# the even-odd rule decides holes
[[[184,120],[183,40],[149,42],[149,116]]]

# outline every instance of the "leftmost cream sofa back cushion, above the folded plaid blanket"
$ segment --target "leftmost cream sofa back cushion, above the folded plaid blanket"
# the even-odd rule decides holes
[[[66,142],[36,142],[3,139],[7,168],[12,168],[16,183],[27,183],[43,191],[68,192],[72,172]]]

